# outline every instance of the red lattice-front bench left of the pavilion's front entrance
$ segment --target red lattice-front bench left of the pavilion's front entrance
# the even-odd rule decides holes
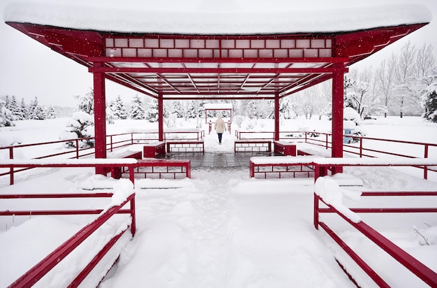
[[[135,164],[135,174],[144,174],[145,178],[163,178],[163,175],[177,175],[191,178],[191,161],[185,159],[142,159]],[[156,175],[156,177],[147,177]]]

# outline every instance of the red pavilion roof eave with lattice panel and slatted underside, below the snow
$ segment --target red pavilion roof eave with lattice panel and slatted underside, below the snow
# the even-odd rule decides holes
[[[279,92],[281,98],[288,96],[331,78],[335,71],[347,72],[350,64],[368,57],[428,23],[329,34],[198,35],[195,37],[164,34],[115,34],[36,24],[10,22],[8,24],[54,51],[89,67],[91,73],[104,73],[108,80],[155,99],[159,94],[163,94],[165,99],[212,100],[218,99],[215,96],[217,94],[223,96],[221,99],[272,99],[276,92]],[[138,41],[135,39],[140,39],[142,45],[146,46],[141,48],[135,44],[136,46],[132,49],[121,44],[120,48],[117,48],[117,41],[130,43],[130,39],[133,39],[133,43]],[[147,48],[147,41],[158,46]],[[281,56],[274,57],[276,52],[283,53],[288,50],[290,51],[287,53],[298,50],[302,53],[306,48],[296,49],[297,46],[312,46],[313,41],[315,45],[318,45],[316,47],[321,47],[318,48],[318,53],[325,53],[325,50],[329,50],[331,51],[329,55],[325,57],[314,57],[315,55],[284,57],[279,54]],[[188,46],[184,49],[188,52],[196,50],[195,56],[175,57],[169,54],[170,50],[179,52],[181,49],[178,47],[186,43]],[[201,48],[199,48],[199,43],[202,45]],[[276,43],[280,43],[281,46],[269,48],[269,45],[276,45]],[[320,43],[322,43],[321,46]],[[224,44],[231,46],[223,48],[221,45]],[[249,57],[242,57],[243,55],[231,57],[231,52],[253,53],[254,49],[251,45],[258,45],[255,46],[258,56],[248,54]],[[289,48],[284,50],[283,45],[288,45],[286,47]],[[311,46],[307,46],[308,51],[311,50]],[[108,49],[121,52],[125,49],[124,47],[127,49],[126,55],[124,52],[118,56],[108,55]],[[135,50],[138,54],[140,49],[148,49],[153,53],[141,57],[136,54],[135,57],[131,57],[131,54],[128,54],[128,52],[131,53],[128,50]],[[222,50],[227,54],[222,55]],[[312,50],[315,49],[312,48]],[[201,52],[205,54],[205,51],[209,51],[211,55],[206,57],[200,55]],[[271,55],[262,56],[261,51],[271,51]],[[167,54],[162,55],[163,52]],[[94,66],[96,63],[101,63],[103,66]]]

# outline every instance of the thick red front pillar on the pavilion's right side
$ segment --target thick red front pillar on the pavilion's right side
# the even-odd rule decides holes
[[[334,64],[343,68],[342,64]],[[332,152],[334,158],[343,157],[343,78],[344,72],[332,73]],[[343,167],[334,167],[332,173],[343,172]]]

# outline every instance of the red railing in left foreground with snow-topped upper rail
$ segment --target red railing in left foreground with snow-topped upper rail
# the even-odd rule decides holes
[[[127,160],[127,161],[126,161]],[[10,160],[9,163],[0,162],[0,167],[9,167],[9,166],[19,166],[19,167],[114,167],[114,166],[129,166],[133,164],[135,159],[124,159],[124,161],[113,161],[111,159],[99,161],[98,163],[92,163],[92,161],[84,161],[84,160],[74,160],[66,161],[63,160],[64,163],[60,161],[54,161],[53,163],[48,163],[47,161],[40,160],[28,160],[25,161],[17,161]],[[15,163],[14,163],[15,162]],[[94,160],[95,162],[95,160]],[[133,169],[132,169],[133,170]],[[117,193],[117,192],[116,192]],[[71,199],[71,198],[81,198],[81,199],[89,199],[89,198],[108,198],[112,197],[112,193],[89,193],[89,194],[1,194],[0,199]],[[128,209],[122,209],[126,204],[129,203]],[[71,254],[75,250],[76,247],[84,243],[91,234],[98,230],[105,222],[117,214],[128,214],[131,216],[131,224],[129,225],[131,228],[132,236],[135,235],[135,194],[132,191],[132,194],[127,197],[123,203],[120,203],[117,206],[109,206],[106,209],[94,209],[94,210],[5,210],[0,211],[0,216],[6,215],[97,215],[98,217],[91,223],[84,226],[84,228],[80,229],[74,236],[66,240],[62,245],[57,247],[52,253],[47,255],[43,260],[41,260],[38,264],[32,267],[27,273],[24,273],[20,278],[15,280],[10,287],[31,287],[36,282],[38,282],[44,275],[49,273],[52,268],[57,266],[59,262]],[[94,256],[94,258],[82,268],[75,279],[70,283],[68,287],[77,287],[80,283],[87,278],[87,275],[91,273],[94,267],[103,259],[103,257],[110,251],[112,246],[117,243],[117,241],[124,235],[124,233],[128,230],[128,228],[124,229],[120,227],[121,232],[114,235],[102,248],[101,250]],[[116,259],[113,259],[115,261]],[[107,267],[108,270],[110,267]],[[96,283],[96,286],[98,283]]]

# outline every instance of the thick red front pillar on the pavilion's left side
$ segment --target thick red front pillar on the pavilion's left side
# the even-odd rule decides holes
[[[94,67],[101,68],[103,63],[94,63]],[[94,139],[96,158],[106,158],[106,99],[105,74],[93,73],[94,78]],[[96,167],[96,174],[106,175],[103,167]]]

